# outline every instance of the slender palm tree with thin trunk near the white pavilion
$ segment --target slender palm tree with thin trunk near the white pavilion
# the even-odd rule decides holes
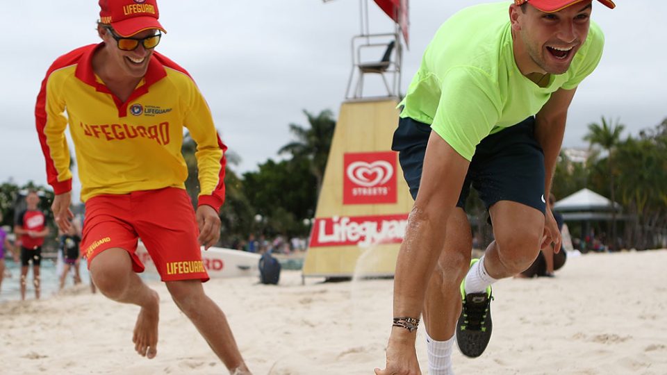
[[[602,117],[602,124],[588,124],[588,134],[584,136],[584,140],[591,144],[591,148],[595,145],[600,146],[607,151],[607,170],[609,173],[609,193],[611,194],[611,249],[616,250],[616,194],[614,191],[614,152],[620,143],[620,133],[623,132],[625,125],[619,124],[618,119],[616,124],[608,124],[607,120]]]

